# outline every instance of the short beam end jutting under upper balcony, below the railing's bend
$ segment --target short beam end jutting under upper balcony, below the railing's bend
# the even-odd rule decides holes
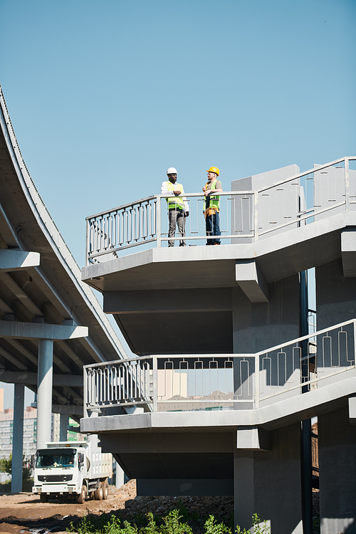
[[[268,302],[268,282],[255,260],[236,261],[236,282],[251,302]]]

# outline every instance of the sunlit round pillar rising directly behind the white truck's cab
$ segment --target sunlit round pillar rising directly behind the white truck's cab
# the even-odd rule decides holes
[[[51,441],[53,340],[38,340],[37,449]]]

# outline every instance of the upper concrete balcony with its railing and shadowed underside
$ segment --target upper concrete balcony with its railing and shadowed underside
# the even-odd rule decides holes
[[[341,260],[343,275],[356,276],[354,160],[232,182],[221,194],[221,246],[204,246],[201,194],[187,194],[185,247],[166,246],[162,195],[88,217],[83,281],[103,293],[105,313],[138,355],[256,352],[297,337],[298,273]],[[273,312],[281,294],[282,322]],[[172,335],[173,317],[184,336]],[[246,321],[258,333],[245,342]],[[204,334],[207,325],[214,336]],[[261,325],[277,337],[266,339]]]

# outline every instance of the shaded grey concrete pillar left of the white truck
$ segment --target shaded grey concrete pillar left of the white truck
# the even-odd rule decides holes
[[[24,384],[15,384],[14,388],[14,427],[12,434],[12,471],[11,491],[22,491],[22,457],[23,457],[23,402]]]

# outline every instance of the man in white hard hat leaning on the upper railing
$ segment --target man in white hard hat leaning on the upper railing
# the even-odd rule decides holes
[[[169,231],[168,237],[174,237],[178,226],[179,237],[185,236],[185,218],[189,216],[189,206],[182,184],[177,183],[177,169],[167,169],[167,181],[162,182],[161,194],[173,193],[174,197],[167,197]],[[174,246],[174,239],[169,239],[168,246]],[[179,240],[179,246],[186,246],[184,239]]]

